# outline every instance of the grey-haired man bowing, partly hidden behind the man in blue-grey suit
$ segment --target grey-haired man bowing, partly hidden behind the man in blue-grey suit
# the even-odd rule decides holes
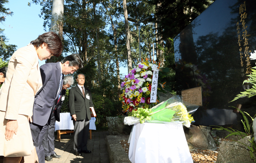
[[[55,121],[60,121],[60,111],[62,102],[64,101],[67,88],[74,84],[73,76],[64,76],[62,91],[56,98],[53,108],[55,108],[51,116],[50,124],[48,130],[44,135],[43,147],[44,147],[44,156],[45,160],[52,161],[52,157],[60,158],[60,155],[57,155],[54,152],[54,132],[55,132]]]

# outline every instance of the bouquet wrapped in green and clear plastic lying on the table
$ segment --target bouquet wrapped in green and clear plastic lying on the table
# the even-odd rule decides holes
[[[132,125],[135,123],[178,123],[190,127],[191,116],[197,109],[198,105],[189,104],[182,100],[181,96],[173,96],[166,101],[152,107],[151,109],[139,108],[132,111],[132,117],[125,117],[124,123]]]

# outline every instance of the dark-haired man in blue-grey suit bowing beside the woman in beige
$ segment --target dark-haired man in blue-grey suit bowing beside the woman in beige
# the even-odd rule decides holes
[[[40,67],[42,88],[35,95],[33,116],[30,129],[39,163],[45,162],[42,145],[48,129],[54,101],[58,98],[63,84],[63,75],[72,74],[82,67],[83,61],[78,54],[71,54],[57,63],[47,63]]]

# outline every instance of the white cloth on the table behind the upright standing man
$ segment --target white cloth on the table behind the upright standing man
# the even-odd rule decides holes
[[[74,129],[74,124],[73,124],[73,121],[71,119],[72,119],[72,117],[70,116],[69,112],[60,113],[60,121],[55,122],[55,131],[59,130],[59,129],[71,129],[71,130],[73,130]],[[91,117],[89,129],[96,130],[95,121],[96,121],[96,118]]]

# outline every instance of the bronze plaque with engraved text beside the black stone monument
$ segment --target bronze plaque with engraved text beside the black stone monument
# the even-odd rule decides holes
[[[202,106],[202,88],[196,87],[181,91],[182,99],[190,104]]]

